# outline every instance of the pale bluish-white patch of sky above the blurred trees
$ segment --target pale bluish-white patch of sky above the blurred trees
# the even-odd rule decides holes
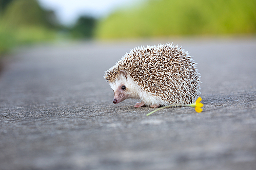
[[[54,10],[60,23],[72,25],[79,16],[106,17],[118,7],[138,0],[39,0],[45,9]]]

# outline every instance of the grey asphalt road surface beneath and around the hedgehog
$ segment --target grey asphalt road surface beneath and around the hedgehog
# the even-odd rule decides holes
[[[198,63],[203,112],[113,104],[104,71],[167,42]],[[256,170],[255,38],[51,44],[5,65],[0,170]]]

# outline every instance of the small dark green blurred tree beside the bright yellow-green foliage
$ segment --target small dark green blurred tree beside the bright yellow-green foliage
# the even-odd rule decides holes
[[[96,19],[93,17],[79,17],[77,23],[71,28],[74,38],[92,38],[94,35]]]

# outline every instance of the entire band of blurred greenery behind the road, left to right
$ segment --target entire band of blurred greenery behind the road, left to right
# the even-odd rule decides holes
[[[255,35],[256,0],[139,0],[106,17],[61,25],[37,0],[0,0],[0,54],[58,39]]]

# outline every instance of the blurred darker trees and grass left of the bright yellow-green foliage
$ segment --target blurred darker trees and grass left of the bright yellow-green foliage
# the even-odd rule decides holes
[[[59,24],[54,11],[40,7],[38,0],[0,0],[0,54],[20,44],[56,38],[92,38],[93,17],[80,17],[70,27]]]

